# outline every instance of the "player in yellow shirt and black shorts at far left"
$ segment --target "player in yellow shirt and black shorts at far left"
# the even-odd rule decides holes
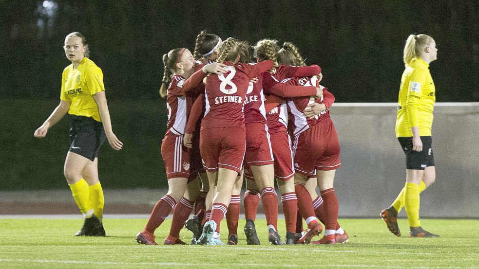
[[[98,150],[108,142],[115,150],[123,147],[112,131],[110,112],[103,85],[103,73],[88,58],[85,37],[74,32],[65,38],[65,54],[72,62],[61,76],[60,104],[50,117],[35,131],[43,138],[68,112],[71,145],[63,173],[84,215],[83,227],[75,235],[105,236],[102,216],[104,197],[98,180]]]

